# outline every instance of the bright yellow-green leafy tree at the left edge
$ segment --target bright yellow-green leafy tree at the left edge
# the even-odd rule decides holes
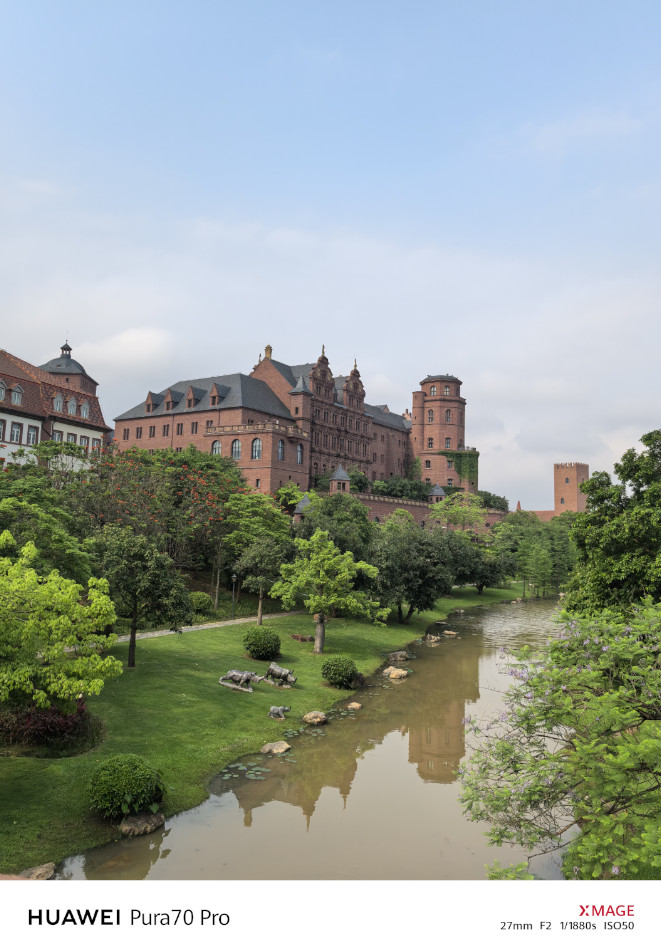
[[[32,567],[28,542],[17,557],[9,532],[0,535],[0,703],[11,707],[71,708],[80,695],[98,694],[121,665],[98,651],[99,633],[115,620],[108,583],[82,585],[57,571]],[[111,643],[111,640],[106,640]]]

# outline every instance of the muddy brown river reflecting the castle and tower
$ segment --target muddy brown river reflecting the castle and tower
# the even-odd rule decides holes
[[[455,771],[470,752],[464,718],[502,704],[509,680],[498,648],[544,643],[553,611],[538,602],[452,615],[439,630],[457,636],[416,643],[411,676],[375,675],[357,713],[343,704],[325,727],[288,736],[286,757],[246,757],[197,809],[151,836],[67,859],[58,877],[484,879],[496,859],[521,861],[464,818]],[[561,877],[550,860],[534,871]]]

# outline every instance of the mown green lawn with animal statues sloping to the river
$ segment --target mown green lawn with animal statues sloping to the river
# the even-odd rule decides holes
[[[278,661],[293,667],[296,686],[277,690],[265,684],[254,693],[218,685],[232,667],[265,673],[266,661],[251,660],[242,645],[242,624],[138,641],[136,667],[106,683],[89,708],[104,723],[103,739],[78,756],[43,759],[4,756],[0,770],[0,871],[17,873],[44,862],[58,862],[95,845],[119,838],[117,828],[97,818],[87,798],[94,768],[117,753],[144,756],[169,787],[164,812],[173,815],[207,797],[207,783],[237,757],[256,752],[310,710],[329,710],[351,694],[326,685],[324,660],[348,654],[359,671],[376,670],[391,650],[424,633],[427,625],[457,608],[487,605],[520,595],[520,586],[485,591],[457,589],[438,602],[437,610],[415,615],[407,626],[375,627],[360,621],[331,620],[325,653],[290,634],[310,634],[309,615],[269,621],[282,642]],[[126,663],[127,644],[112,653]],[[289,723],[267,717],[272,703],[291,706]]]

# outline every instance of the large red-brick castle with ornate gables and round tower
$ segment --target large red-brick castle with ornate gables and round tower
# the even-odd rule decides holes
[[[270,346],[249,375],[182,380],[115,420],[120,449],[182,450],[230,456],[248,483],[275,492],[289,480],[302,489],[338,466],[371,481],[404,476],[415,457],[422,478],[477,489],[477,456],[464,444],[461,380],[427,376],[413,394],[412,412],[365,401],[357,364],[334,376],[322,348],[315,363],[273,359]]]

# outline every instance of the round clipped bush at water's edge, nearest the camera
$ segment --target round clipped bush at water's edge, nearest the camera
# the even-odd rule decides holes
[[[155,769],[134,753],[111,756],[97,767],[89,784],[92,807],[106,819],[129,813],[156,812],[165,787]]]

